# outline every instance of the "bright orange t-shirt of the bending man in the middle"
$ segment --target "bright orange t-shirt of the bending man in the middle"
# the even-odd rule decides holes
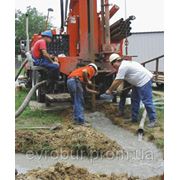
[[[75,69],[73,72],[69,74],[68,78],[79,77],[80,81],[83,82],[83,70],[85,69],[88,72],[88,79],[91,79],[96,73],[92,66],[84,66],[84,67]]]

